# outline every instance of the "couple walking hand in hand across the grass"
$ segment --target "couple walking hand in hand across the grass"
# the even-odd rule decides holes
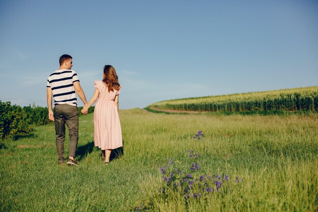
[[[120,85],[114,67],[106,65],[103,80],[94,81],[95,92],[87,103],[78,76],[73,67],[72,56],[63,54],[59,58],[59,69],[47,80],[47,105],[49,119],[55,124],[58,163],[64,164],[65,124],[69,129],[70,149],[67,164],[78,165],[75,161],[78,142],[78,109],[75,93],[83,101],[83,114],[98,99],[94,108],[94,145],[102,150],[104,163],[108,164],[111,150],[122,147],[120,120],[118,116],[118,95]],[[54,111],[52,109],[52,96]]]

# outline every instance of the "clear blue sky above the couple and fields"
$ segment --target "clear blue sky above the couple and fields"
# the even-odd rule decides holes
[[[318,85],[318,1],[0,0],[1,101],[45,107],[62,54],[87,101],[114,66],[120,109]]]

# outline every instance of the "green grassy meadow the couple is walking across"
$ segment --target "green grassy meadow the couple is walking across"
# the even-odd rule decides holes
[[[78,167],[57,164],[52,124],[36,127],[34,137],[1,141],[1,211],[318,210],[317,113],[120,110],[123,155],[108,166],[93,147],[92,118],[80,116]],[[197,131],[204,134],[200,140],[193,138]],[[65,157],[68,145],[67,139]],[[199,156],[189,157],[189,150]],[[190,170],[194,163],[198,170]],[[165,174],[184,171],[174,182],[192,174],[192,196],[167,184],[160,170],[167,164]],[[218,191],[201,190],[196,179],[215,174],[229,179]]]

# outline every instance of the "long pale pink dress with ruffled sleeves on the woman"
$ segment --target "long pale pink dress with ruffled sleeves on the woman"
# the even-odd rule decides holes
[[[103,81],[94,81],[99,96],[94,109],[94,145],[102,150],[122,147],[120,120],[115,97],[120,89],[108,92]]]

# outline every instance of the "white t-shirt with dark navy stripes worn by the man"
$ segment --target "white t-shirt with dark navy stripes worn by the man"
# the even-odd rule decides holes
[[[62,69],[54,71],[47,80],[47,87],[51,87],[54,105],[77,105],[73,83],[79,81],[73,70]]]

